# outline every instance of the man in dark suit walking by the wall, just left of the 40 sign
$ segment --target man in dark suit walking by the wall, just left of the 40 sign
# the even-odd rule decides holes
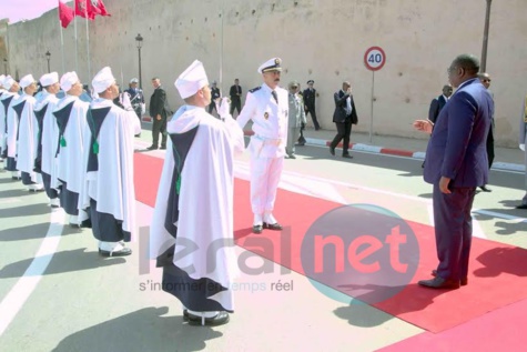
[[[333,113],[333,122],[336,125],[336,135],[330,144],[330,152],[335,155],[335,148],[344,140],[342,147],[342,157],[349,158],[349,135],[352,134],[352,124],[357,124],[358,115],[355,109],[355,102],[352,95],[352,84],[349,82],[343,82],[342,89],[337,91],[333,99],[335,100],[335,112]]]

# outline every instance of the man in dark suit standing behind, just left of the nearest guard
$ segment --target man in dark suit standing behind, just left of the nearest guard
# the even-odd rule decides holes
[[[166,100],[166,92],[161,87],[159,78],[152,79],[154,92],[150,98],[149,112],[153,120],[152,125],[152,145],[149,150],[159,148],[159,134],[161,133],[161,149],[166,149],[166,118],[170,114],[169,101]]]

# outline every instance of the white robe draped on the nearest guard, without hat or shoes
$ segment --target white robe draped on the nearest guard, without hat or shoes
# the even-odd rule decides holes
[[[151,225],[151,258],[160,257],[174,244],[175,253],[183,251],[192,241],[195,250],[183,258],[174,255],[174,265],[191,279],[206,278],[226,288],[209,299],[233,311],[231,288],[237,273],[233,249],[233,151],[243,151],[243,131],[230,114],[223,122],[203,108],[189,105],[175,113],[166,130],[170,134],[181,134],[196,125],[181,173],[176,239],[164,227],[175,167],[169,138]]]

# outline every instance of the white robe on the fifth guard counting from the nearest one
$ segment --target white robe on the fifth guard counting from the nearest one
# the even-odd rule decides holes
[[[19,115],[19,139],[17,169],[29,173],[32,182],[37,182],[37,173],[33,171],[34,158],[37,155],[38,122],[34,117],[34,103],[37,100],[32,95],[22,94],[14,105],[26,101],[22,113]]]

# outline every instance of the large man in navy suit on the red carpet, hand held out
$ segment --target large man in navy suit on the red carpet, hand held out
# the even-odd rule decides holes
[[[416,120],[414,127],[432,133],[424,179],[434,184],[434,223],[439,264],[419,285],[458,289],[468,283],[472,217],[476,188],[488,179],[486,142],[494,111],[493,98],[479,82],[479,60],[458,56],[448,69],[457,91],[436,123]],[[434,127],[434,129],[432,129]]]

